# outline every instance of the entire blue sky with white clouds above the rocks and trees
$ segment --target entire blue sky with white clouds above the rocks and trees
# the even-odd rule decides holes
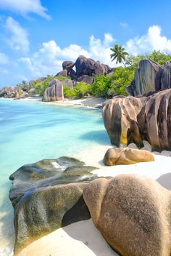
[[[114,44],[171,53],[170,9],[170,0],[0,0],[0,88],[55,75],[79,55],[114,67]]]

